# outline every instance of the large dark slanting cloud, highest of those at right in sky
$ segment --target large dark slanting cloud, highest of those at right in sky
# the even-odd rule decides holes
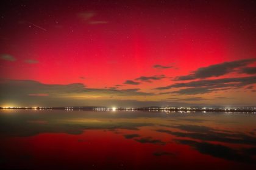
[[[255,61],[256,59],[237,60],[221,64],[215,64],[208,67],[201,67],[195,70],[190,75],[176,77],[176,80],[194,80],[197,78],[219,77],[221,75],[234,72],[236,69],[247,66],[247,64],[251,64]]]

